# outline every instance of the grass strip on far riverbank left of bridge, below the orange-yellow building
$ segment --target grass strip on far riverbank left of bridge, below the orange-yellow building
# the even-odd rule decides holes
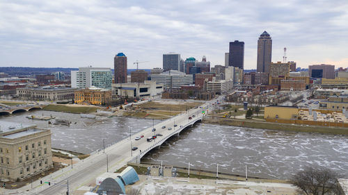
[[[42,110],[56,111],[56,112],[70,112],[74,114],[97,112],[96,107],[91,106],[69,106],[69,105],[46,105]]]

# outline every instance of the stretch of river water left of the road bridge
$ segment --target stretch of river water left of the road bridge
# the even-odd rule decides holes
[[[52,116],[58,119],[72,121],[70,126],[49,125],[48,121],[26,119],[28,115]],[[13,115],[2,115],[0,120],[14,121],[23,124],[36,124],[39,128],[49,128],[52,132],[52,147],[77,151],[80,153],[91,153],[105,146],[129,137],[129,132],[137,133],[144,128],[157,124],[159,121],[150,119],[131,119],[125,117],[97,117],[96,119],[81,118],[78,114],[65,112],[52,112],[35,110],[31,112],[20,112]],[[75,124],[76,122],[76,124]]]

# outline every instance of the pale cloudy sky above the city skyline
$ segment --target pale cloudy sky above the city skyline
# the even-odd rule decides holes
[[[162,67],[162,54],[207,56],[224,64],[228,42],[245,42],[245,69],[256,68],[258,36],[273,40],[272,60],[298,67],[348,67],[348,1],[88,1],[1,0],[0,66]]]

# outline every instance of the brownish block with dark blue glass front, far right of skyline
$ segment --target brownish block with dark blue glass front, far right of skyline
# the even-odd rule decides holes
[[[308,71],[310,78],[335,78],[335,65],[310,65]]]

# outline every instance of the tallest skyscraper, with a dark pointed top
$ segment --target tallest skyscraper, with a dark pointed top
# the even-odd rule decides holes
[[[272,38],[264,31],[258,40],[258,72],[269,73],[272,61]]]

